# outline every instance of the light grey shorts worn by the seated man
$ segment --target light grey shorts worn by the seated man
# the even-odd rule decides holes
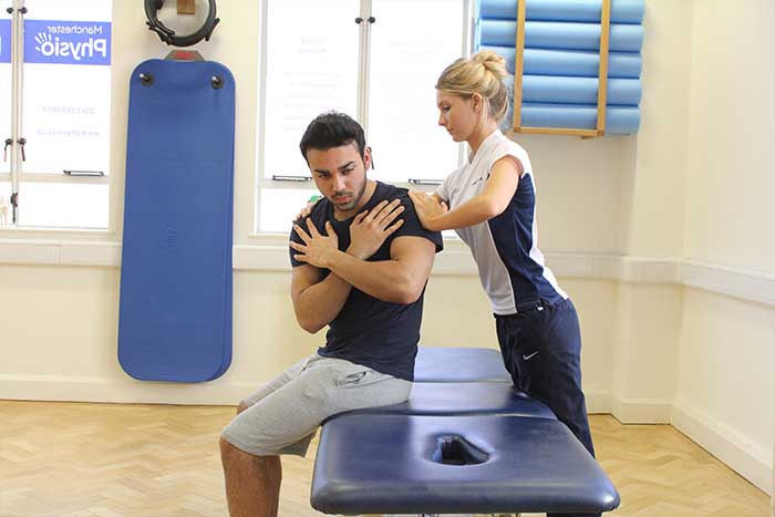
[[[311,355],[242,401],[221,437],[255,456],[304,456],[320,424],[351,410],[399,404],[412,383],[343,359]]]

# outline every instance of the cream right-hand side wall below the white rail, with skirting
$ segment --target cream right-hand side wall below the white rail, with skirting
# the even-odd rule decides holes
[[[673,424],[769,489],[775,310],[686,289]]]

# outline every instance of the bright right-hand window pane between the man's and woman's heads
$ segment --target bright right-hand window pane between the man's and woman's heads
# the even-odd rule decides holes
[[[384,182],[442,179],[458,167],[458,146],[436,124],[442,70],[463,55],[459,1],[373,0],[369,141]],[[382,29],[381,25],[386,28]],[[407,159],[407,157],[410,157]]]

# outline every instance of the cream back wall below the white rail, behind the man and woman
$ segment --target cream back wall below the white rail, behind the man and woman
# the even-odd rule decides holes
[[[236,404],[257,384],[323,342],[293,318],[286,272],[237,271],[234,360],[208,383],[140,382],[116,359],[120,272],[102,267],[0,265],[0,399]],[[608,412],[613,323],[610,281],[567,281],[583,323],[585,385]],[[434,276],[427,288],[422,342],[497,348],[494,319],[475,276]]]

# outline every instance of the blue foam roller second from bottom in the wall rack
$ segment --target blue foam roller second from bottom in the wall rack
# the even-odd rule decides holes
[[[504,81],[514,87],[514,75]],[[637,79],[609,79],[607,103],[637,106],[641,87]],[[597,77],[560,77],[557,75],[523,75],[523,103],[596,104]]]

